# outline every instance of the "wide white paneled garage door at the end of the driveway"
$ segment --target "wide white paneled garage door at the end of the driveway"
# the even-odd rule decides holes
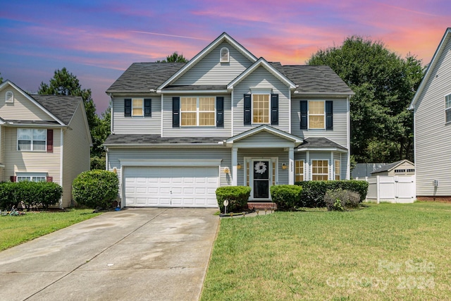
[[[125,167],[126,207],[218,207],[218,167]]]

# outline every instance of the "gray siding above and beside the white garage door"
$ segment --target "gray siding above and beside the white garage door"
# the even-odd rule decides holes
[[[215,149],[120,149],[109,148],[107,169],[113,171],[117,168],[118,178],[121,180],[120,159],[223,159],[221,161],[221,172],[219,173],[221,186],[232,185],[230,176],[223,172],[224,167],[231,169],[232,151],[230,148]]]

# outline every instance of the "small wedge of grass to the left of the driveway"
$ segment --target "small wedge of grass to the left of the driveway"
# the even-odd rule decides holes
[[[0,251],[97,215],[92,213],[92,209],[71,209],[65,212],[27,212],[23,216],[0,216]]]

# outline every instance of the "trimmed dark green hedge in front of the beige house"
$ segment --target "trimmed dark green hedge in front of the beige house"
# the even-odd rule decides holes
[[[21,202],[25,209],[57,204],[63,195],[63,188],[53,182],[21,181],[0,183],[0,208],[10,210]]]

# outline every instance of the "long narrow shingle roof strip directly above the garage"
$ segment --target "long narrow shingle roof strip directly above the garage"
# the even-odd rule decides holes
[[[227,137],[161,137],[161,135],[112,134],[106,138],[104,145],[160,144],[160,143],[218,143]]]

